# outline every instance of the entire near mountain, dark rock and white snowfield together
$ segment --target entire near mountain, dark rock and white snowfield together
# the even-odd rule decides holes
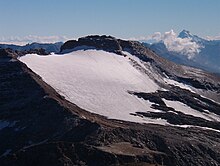
[[[1,49],[0,165],[220,165],[220,77],[160,44],[93,35],[59,52]]]

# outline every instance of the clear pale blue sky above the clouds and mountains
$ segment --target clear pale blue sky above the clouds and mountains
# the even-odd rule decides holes
[[[138,38],[170,29],[216,36],[219,17],[220,0],[0,0],[0,38]]]

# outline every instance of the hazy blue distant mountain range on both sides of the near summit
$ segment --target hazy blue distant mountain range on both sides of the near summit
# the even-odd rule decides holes
[[[183,52],[169,50],[164,40],[142,41],[142,44],[159,56],[166,58],[172,62],[206,70],[211,73],[220,74],[220,40],[206,40],[197,35],[191,34],[187,30],[183,30],[177,36],[179,39],[190,39],[199,46],[199,52],[192,58],[186,56]],[[14,44],[0,44],[0,49],[10,48],[14,51],[31,51],[44,49],[46,53],[58,53],[62,50],[63,42],[57,43],[31,43],[24,46]],[[178,46],[177,46],[178,47]],[[190,48],[189,48],[190,49]]]

